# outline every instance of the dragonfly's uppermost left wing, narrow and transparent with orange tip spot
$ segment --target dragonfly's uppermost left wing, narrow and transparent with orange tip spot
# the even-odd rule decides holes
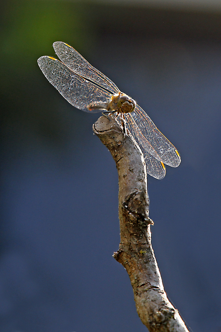
[[[99,84],[114,94],[120,91],[107,76],[91,66],[72,46],[63,41],[55,41],[53,47],[59,59],[75,73]]]

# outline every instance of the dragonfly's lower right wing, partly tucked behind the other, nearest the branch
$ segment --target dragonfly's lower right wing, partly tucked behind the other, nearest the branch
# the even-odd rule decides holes
[[[125,117],[127,119],[127,126],[130,132],[137,140],[139,147],[143,152],[147,174],[156,179],[163,179],[166,174],[166,168],[159,155],[152,148],[146,137],[143,136],[131,113],[126,114]]]

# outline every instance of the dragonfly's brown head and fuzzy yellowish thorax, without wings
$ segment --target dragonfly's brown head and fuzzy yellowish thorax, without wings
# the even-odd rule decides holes
[[[111,101],[108,104],[108,110],[116,110],[119,113],[131,113],[135,110],[136,101],[124,93],[119,93],[112,96]]]

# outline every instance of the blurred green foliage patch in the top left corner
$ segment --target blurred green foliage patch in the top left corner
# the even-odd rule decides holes
[[[81,4],[68,1],[5,2],[0,32],[3,72],[30,71],[39,56],[54,55],[54,41],[65,41],[79,51],[88,47],[92,38],[82,12]]]

